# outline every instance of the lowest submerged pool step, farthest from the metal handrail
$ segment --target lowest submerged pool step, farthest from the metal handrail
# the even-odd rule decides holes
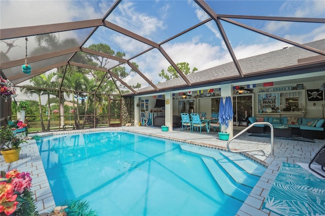
[[[224,194],[242,202],[246,200],[252,188],[236,183],[231,176],[224,172],[214,158],[202,157],[202,160]]]

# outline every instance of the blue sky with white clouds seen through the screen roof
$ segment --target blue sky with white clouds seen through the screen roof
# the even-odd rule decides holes
[[[325,18],[325,1],[206,1],[217,14],[282,16]],[[86,19],[102,18],[112,1],[0,1],[0,27],[52,24]],[[24,9],[25,12],[22,12]],[[133,31],[156,43],[208,18],[208,15],[193,1],[122,1],[109,15],[107,21]],[[293,23],[279,21],[235,20],[245,25],[267,31],[279,37],[298,43],[307,43],[325,38],[325,24]],[[245,30],[221,21],[237,59],[282,49],[282,42],[261,34]],[[62,40],[77,38],[81,43],[91,29],[57,33]],[[11,59],[24,57],[25,40],[15,42],[16,47],[8,54]],[[146,49],[148,45],[128,38],[106,27],[100,27],[86,42],[107,44],[115,52],[124,52],[130,58]],[[7,49],[2,42],[1,50]],[[32,37],[28,40],[30,49],[36,46]],[[289,45],[291,46],[291,45]],[[161,46],[175,63],[188,62],[190,68],[204,70],[232,60],[214,21],[210,21],[177,39]],[[154,49],[133,59],[140,71],[153,83],[163,82],[158,76],[170,63]],[[116,62],[111,61],[111,64]],[[110,65],[108,65],[109,67]],[[127,67],[127,69],[129,69]],[[130,85],[148,84],[136,74],[126,78]]]

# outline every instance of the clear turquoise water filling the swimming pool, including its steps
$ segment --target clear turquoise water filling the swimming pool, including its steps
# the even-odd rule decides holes
[[[235,215],[265,171],[238,154],[128,132],[37,143],[56,205],[85,199],[99,215]]]

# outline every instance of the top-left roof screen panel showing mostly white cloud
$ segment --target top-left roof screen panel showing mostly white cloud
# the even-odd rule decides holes
[[[1,28],[102,18],[114,1],[1,1]]]

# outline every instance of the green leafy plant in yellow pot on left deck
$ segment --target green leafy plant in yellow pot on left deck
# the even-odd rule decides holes
[[[15,136],[11,128],[5,126],[1,127],[0,139],[1,154],[4,156],[5,162],[17,161],[21,150],[20,144],[26,141]]]

